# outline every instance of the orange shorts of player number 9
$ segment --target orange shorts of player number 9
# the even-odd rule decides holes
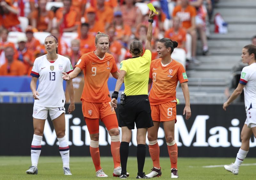
[[[102,119],[108,115],[116,114],[110,106],[110,102],[93,103],[82,100],[82,110],[84,117],[90,119]]]

